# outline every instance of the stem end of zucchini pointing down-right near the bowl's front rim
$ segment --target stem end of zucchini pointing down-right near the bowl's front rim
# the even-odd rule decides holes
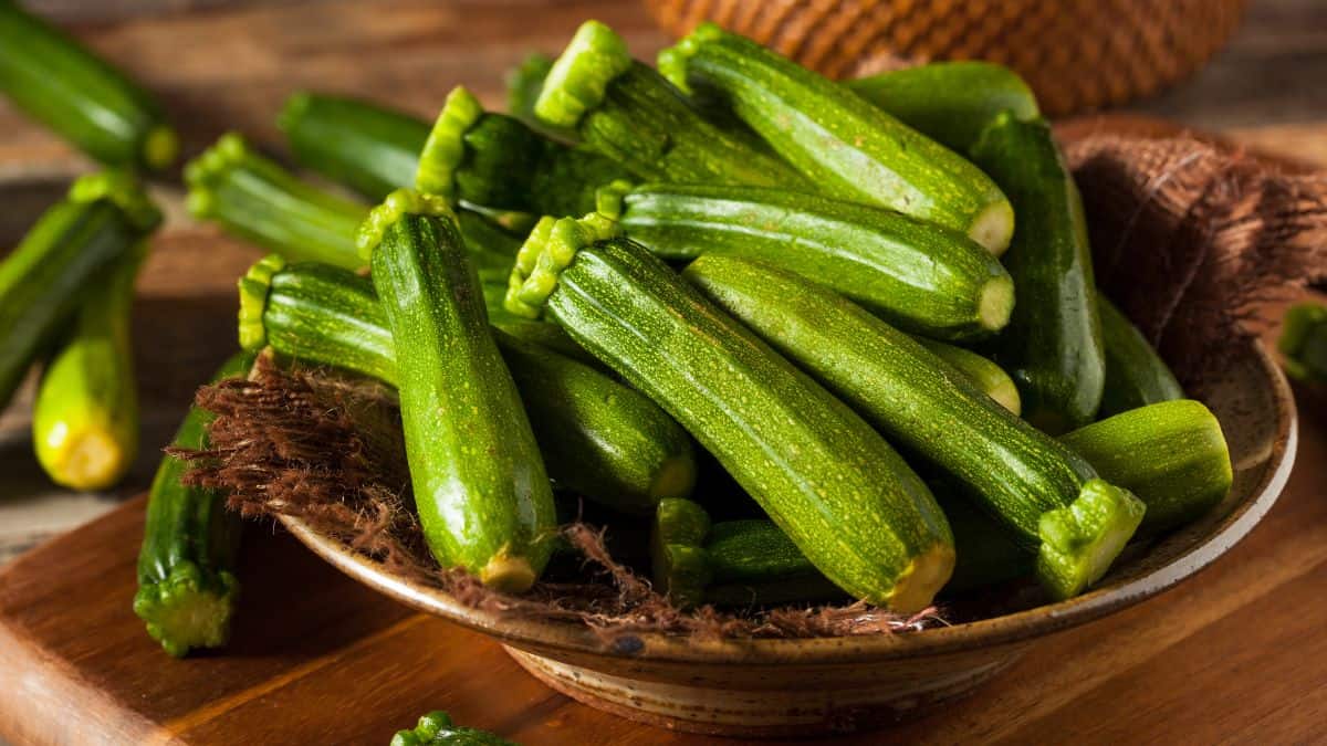
[[[1147,504],[1133,492],[1089,479],[1068,506],[1042,514],[1036,575],[1051,596],[1071,599],[1111,568],[1143,523]]]

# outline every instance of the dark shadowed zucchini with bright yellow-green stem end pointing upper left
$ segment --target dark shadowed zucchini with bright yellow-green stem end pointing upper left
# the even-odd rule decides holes
[[[602,155],[484,112],[478,98],[456,86],[419,157],[415,187],[491,210],[580,216],[594,210],[598,187],[626,177]]]

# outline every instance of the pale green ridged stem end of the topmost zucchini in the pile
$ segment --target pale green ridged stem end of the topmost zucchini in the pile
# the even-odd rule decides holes
[[[600,21],[585,21],[544,78],[535,115],[553,126],[575,127],[602,104],[608,85],[632,62],[617,32]]]

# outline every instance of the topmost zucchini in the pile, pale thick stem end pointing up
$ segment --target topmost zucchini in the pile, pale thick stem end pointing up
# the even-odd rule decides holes
[[[641,179],[809,188],[783,161],[705,121],[598,21],[576,31],[544,82],[535,114],[553,126],[576,127],[583,146]]]

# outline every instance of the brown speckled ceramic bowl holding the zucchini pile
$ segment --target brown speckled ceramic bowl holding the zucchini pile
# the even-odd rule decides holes
[[[812,640],[695,641],[664,634],[612,648],[579,624],[502,619],[384,572],[296,519],[309,548],[405,604],[483,632],[533,676],[587,705],[678,730],[788,737],[892,722],[962,696],[1052,632],[1137,604],[1230,550],[1275,502],[1295,451],[1289,386],[1258,342],[1214,376],[1208,404],[1230,443],[1234,487],[1204,519],[1121,558],[1091,592],[920,632]]]

